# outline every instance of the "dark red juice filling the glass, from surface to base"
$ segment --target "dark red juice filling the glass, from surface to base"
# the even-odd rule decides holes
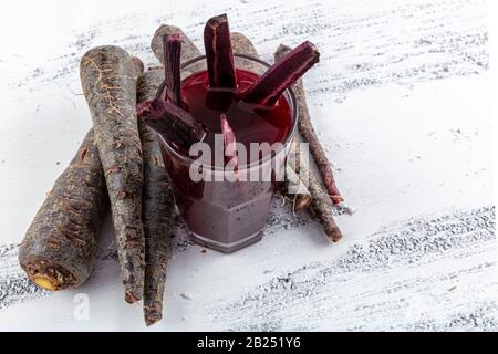
[[[211,132],[205,138],[211,150],[215,150],[215,134],[221,134],[221,113],[226,114],[236,140],[247,147],[248,154],[250,143],[286,142],[293,124],[287,98],[280,97],[271,108],[243,104],[240,102],[241,93],[258,75],[237,69],[237,91],[209,90],[207,72],[195,73],[183,81],[186,110]],[[176,202],[194,241],[231,252],[261,238],[273,194],[271,180],[193,181],[189,175],[191,159],[185,157],[185,152],[180,153],[164,142],[162,147]],[[250,156],[249,162],[260,158]],[[272,160],[262,159],[259,164],[251,164],[250,169],[268,168]]]

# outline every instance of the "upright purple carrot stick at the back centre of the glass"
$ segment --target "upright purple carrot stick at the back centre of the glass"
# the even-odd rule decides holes
[[[204,45],[211,88],[236,88],[237,76],[227,14],[209,19],[204,28]]]

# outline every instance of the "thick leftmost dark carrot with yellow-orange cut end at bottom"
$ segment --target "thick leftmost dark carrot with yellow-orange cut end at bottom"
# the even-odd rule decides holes
[[[96,254],[107,189],[93,131],[56,179],[19,248],[19,263],[46,290],[81,285]]]

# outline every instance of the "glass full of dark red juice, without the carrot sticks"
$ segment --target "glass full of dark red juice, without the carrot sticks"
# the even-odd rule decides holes
[[[209,132],[201,143],[211,148],[211,154],[193,156],[193,149],[183,150],[158,135],[175,201],[193,241],[227,253],[261,239],[273,188],[282,178],[297,126],[291,90],[269,108],[240,101],[241,93],[269,67],[267,63],[235,54],[235,66],[237,90],[209,88],[205,56],[181,67],[181,97],[186,111]],[[165,97],[164,86],[157,93],[160,98]],[[215,156],[220,153],[216,144],[221,137],[221,114],[226,115],[237,143],[247,149],[246,159],[240,159],[239,154],[235,179],[227,177],[222,156]],[[276,148],[256,152],[251,150],[251,143],[267,143],[267,147],[274,144]],[[199,173],[195,178],[193,170]],[[204,177],[199,180],[200,173]]]

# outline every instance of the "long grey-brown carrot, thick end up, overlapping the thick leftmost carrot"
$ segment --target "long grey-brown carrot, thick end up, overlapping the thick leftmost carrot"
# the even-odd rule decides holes
[[[80,64],[111,200],[125,300],[129,303],[142,299],[145,267],[134,70],[132,58],[112,45],[90,50]]]

